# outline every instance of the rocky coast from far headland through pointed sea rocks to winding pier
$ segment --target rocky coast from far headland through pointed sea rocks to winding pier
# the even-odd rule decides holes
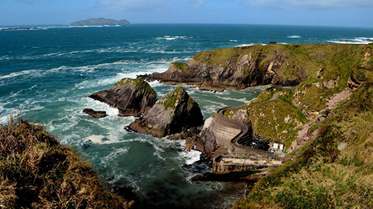
[[[196,53],[187,63],[174,62],[165,73],[122,79],[110,90],[90,97],[119,108],[120,116],[140,116],[128,126],[129,130],[158,138],[171,135],[169,139],[186,139],[185,149],[202,151],[202,158],[214,164],[213,171],[217,175],[263,171],[261,176],[265,176],[269,169],[285,162],[284,156],[271,156],[269,152],[251,148],[256,136],[285,145],[278,153],[298,149],[304,144],[299,142],[315,136],[306,134],[309,128],[327,116],[323,113],[326,106],[330,106],[327,98],[339,98],[333,95],[352,92],[361,83],[359,67],[371,66],[372,49],[366,45],[343,47],[345,49],[340,49],[341,45],[272,44],[213,49]],[[362,60],[354,66],[356,70],[350,77],[339,75],[344,66],[330,67],[341,50],[345,50],[342,54],[346,56]],[[349,50],[355,51],[352,56]],[[189,132],[191,127],[202,125],[198,104],[182,87],[157,101],[156,93],[143,79],[165,84],[193,84],[200,90],[214,91],[267,84],[273,87],[247,105],[219,110],[204,121],[202,130],[196,132],[194,128]],[[337,103],[348,99],[350,94],[344,95]],[[303,127],[308,128],[298,134]],[[228,164],[227,159],[230,159]]]

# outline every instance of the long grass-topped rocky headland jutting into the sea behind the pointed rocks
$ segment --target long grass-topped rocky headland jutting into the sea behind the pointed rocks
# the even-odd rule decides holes
[[[205,90],[241,89],[265,84],[296,86],[322,75],[326,69],[357,69],[358,62],[354,61],[370,57],[371,49],[368,48],[367,45],[309,44],[213,49],[196,53],[187,64],[173,63],[165,73],[143,77],[169,84],[196,84]],[[348,61],[352,61],[350,66],[342,63]],[[368,65],[367,62],[365,67]],[[328,78],[335,80],[338,74],[341,73],[329,74]]]

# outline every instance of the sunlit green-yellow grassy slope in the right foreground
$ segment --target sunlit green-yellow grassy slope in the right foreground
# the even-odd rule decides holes
[[[317,128],[315,140],[235,207],[373,208],[372,77]]]

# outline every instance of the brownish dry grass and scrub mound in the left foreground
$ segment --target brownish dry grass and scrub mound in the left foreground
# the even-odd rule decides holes
[[[128,208],[87,162],[43,127],[0,125],[0,208]]]

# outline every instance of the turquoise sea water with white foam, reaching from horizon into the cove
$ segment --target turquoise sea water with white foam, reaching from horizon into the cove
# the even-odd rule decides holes
[[[126,25],[42,27],[0,31],[0,121],[10,114],[43,123],[73,146],[110,186],[132,188],[141,208],[227,208],[245,195],[244,184],[191,182],[207,167],[191,164],[197,151],[184,141],[128,133],[133,117],[89,99],[123,77],[166,71],[198,51],[278,43],[367,43],[373,29],[270,25]],[[161,97],[175,86],[151,82]],[[204,119],[224,106],[242,105],[264,87],[210,93],[185,86]],[[84,108],[106,110],[94,119]]]

